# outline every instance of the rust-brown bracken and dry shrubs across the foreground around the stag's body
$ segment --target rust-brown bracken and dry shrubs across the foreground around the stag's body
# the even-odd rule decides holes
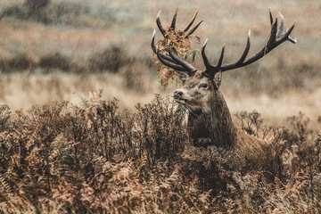
[[[2,213],[321,209],[321,138],[304,114],[289,118],[289,130],[266,127],[257,111],[240,112],[245,131],[270,139],[275,166],[232,171],[219,149],[202,160],[186,157],[193,148],[188,130],[168,98],[130,112],[100,93],[83,107],[54,102],[25,115],[1,105]]]

